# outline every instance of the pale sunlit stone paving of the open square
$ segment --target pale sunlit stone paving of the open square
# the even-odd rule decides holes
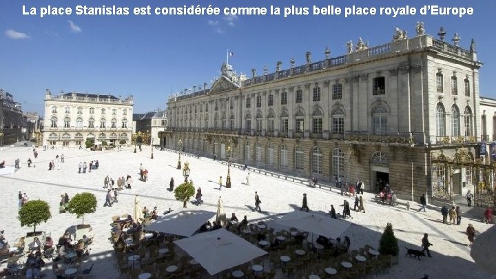
[[[10,242],[24,236],[30,227],[21,227],[17,220],[19,191],[25,192],[30,200],[41,199],[50,204],[52,218],[42,223],[37,230],[47,231],[54,239],[58,239],[65,229],[80,224],[81,220],[75,215],[59,214],[60,195],[91,192],[96,195],[99,204],[94,214],[85,215],[85,223],[94,228],[94,244],[91,256],[83,267],[90,267],[94,263],[94,278],[119,278],[114,266],[112,244],[110,238],[111,217],[114,215],[132,214],[134,196],[141,196],[141,205],[158,211],[171,208],[174,211],[183,210],[182,203],[175,200],[174,193],[169,192],[169,180],[174,177],[176,186],[183,181],[182,171],[176,169],[178,154],[154,149],[154,159],[150,158],[152,149],[143,146],[143,152],[133,153],[133,147],[126,147],[121,152],[116,150],[91,152],[85,149],[43,149],[38,148],[39,156],[34,159],[32,147],[3,147],[0,150],[0,161],[6,165],[14,165],[16,158],[22,163],[21,169],[14,174],[0,176],[2,202],[0,229],[5,229],[4,235]],[[48,171],[48,161],[54,160],[56,155],[64,154],[65,163],[61,169]],[[28,167],[28,158],[33,161]],[[99,169],[86,174],[78,174],[79,162],[99,160]],[[216,211],[219,196],[224,201],[227,216],[235,212],[238,218],[247,215],[249,222],[258,220],[273,220],[281,214],[300,209],[303,193],[307,194],[308,205],[311,211],[327,214],[331,204],[336,211],[342,211],[343,200],[349,201],[353,207],[353,197],[341,196],[335,189],[310,188],[299,183],[251,173],[249,185],[246,185],[247,171],[231,169],[232,187],[219,189],[218,180],[227,175],[226,165],[211,158],[194,158],[182,156],[181,161],[189,162],[192,179],[195,187],[202,188],[203,205],[196,207],[188,203],[188,209],[198,208]],[[143,163],[149,171],[148,181],[142,182],[139,178],[139,164]],[[106,189],[103,189],[103,178],[106,175],[113,177],[130,174],[134,180],[132,189],[125,189],[118,194],[118,203],[112,207],[103,207]],[[391,185],[394,189],[394,185]],[[262,200],[262,212],[254,211],[254,192],[257,191]],[[405,207],[391,207],[373,201],[372,193],[365,193],[364,207],[366,213],[351,211],[353,219],[347,219],[351,226],[343,236],[351,238],[351,249],[359,249],[363,245],[378,248],[380,236],[386,223],[392,223],[395,236],[400,245],[399,263],[393,265],[389,273],[380,274],[378,278],[421,278],[428,274],[434,278],[493,278],[493,275],[480,269],[470,256],[470,247],[465,230],[468,223],[472,223],[477,231],[486,231],[491,225],[481,223],[481,209],[462,207],[462,225],[444,225],[439,207],[428,206],[426,212],[418,212],[417,203],[411,203],[411,209]],[[431,254],[433,258],[404,257],[405,247],[422,249],[422,237],[429,234],[433,243]],[[477,241],[477,240],[476,240]],[[26,244],[27,245],[27,244]],[[44,271],[45,278],[54,278],[51,269]],[[279,275],[278,275],[279,277]],[[280,277],[282,278],[282,277]]]

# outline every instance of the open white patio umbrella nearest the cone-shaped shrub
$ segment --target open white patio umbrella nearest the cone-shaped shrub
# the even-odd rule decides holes
[[[328,238],[338,238],[348,229],[350,223],[333,219],[319,214],[304,211],[294,211],[276,220],[276,224],[296,227],[301,231],[309,231],[313,234],[326,236]]]

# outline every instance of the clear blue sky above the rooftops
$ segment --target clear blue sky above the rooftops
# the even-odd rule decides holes
[[[335,5],[386,7],[424,5],[473,7],[475,14],[464,16],[87,16],[22,15],[22,6],[266,6],[312,7]],[[311,9],[310,9],[311,10]],[[496,1],[166,1],[166,0],[1,0],[0,1],[0,88],[14,94],[24,111],[43,114],[46,88],[58,94],[134,95],[135,112],[164,108],[171,92],[198,86],[220,74],[227,49],[234,52],[234,70],[251,76],[267,65],[273,71],[277,61],[289,68],[304,63],[304,53],[312,52],[313,61],[324,58],[329,46],[331,56],[345,54],[346,41],[362,37],[369,45],[391,41],[399,27],[415,34],[415,22],[424,21],[426,32],[435,35],[440,26],[448,34],[457,32],[462,48],[472,38],[477,43],[480,93],[496,98]],[[451,41],[450,41],[451,42]]]

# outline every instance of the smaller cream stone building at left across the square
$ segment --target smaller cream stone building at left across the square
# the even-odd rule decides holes
[[[85,146],[94,143],[130,143],[133,97],[45,92],[43,145]]]

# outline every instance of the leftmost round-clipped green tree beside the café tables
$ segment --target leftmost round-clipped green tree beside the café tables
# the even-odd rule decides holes
[[[44,200],[30,200],[19,209],[19,216],[21,227],[33,226],[33,231],[36,231],[36,226],[52,218],[50,214],[50,205]]]

